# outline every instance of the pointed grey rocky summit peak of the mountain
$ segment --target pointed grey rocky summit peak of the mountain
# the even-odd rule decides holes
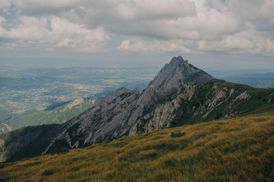
[[[175,94],[185,83],[208,83],[217,81],[203,70],[192,66],[181,56],[173,57],[160,73],[149,83],[149,86],[138,99],[140,104],[166,99]]]

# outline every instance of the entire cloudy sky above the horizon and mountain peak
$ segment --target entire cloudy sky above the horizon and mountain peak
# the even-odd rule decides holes
[[[207,68],[274,68],[273,10],[273,0],[1,0],[0,64],[182,55]]]

